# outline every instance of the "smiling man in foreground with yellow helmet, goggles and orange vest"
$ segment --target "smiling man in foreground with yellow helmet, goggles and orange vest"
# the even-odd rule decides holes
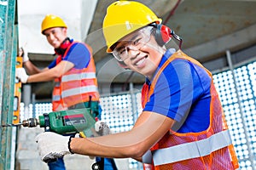
[[[174,31],[150,8],[132,1],[112,3],[102,30],[107,52],[146,77],[143,111],[124,133],[87,139],[40,133],[42,160],[76,153],[131,157],[145,169],[238,168],[212,74],[182,50],[166,49],[172,37],[179,40]]]

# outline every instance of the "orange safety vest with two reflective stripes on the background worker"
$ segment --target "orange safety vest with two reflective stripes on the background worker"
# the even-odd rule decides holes
[[[63,58],[67,56],[69,49],[67,48]],[[84,44],[90,51],[90,63],[84,69],[72,68],[67,71],[62,77],[55,79],[55,88],[53,90],[52,105],[53,111],[57,109],[67,110],[72,105],[84,103],[88,101],[99,101],[99,93],[96,80],[96,66],[92,57],[90,46]],[[61,62],[61,55],[56,59],[56,64]]]

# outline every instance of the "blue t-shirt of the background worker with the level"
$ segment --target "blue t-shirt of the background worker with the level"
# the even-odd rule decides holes
[[[86,68],[90,62],[90,51],[83,43],[75,42],[73,46],[67,52],[67,56],[62,59],[72,62],[75,69],[83,69]],[[48,68],[51,69],[55,67],[56,59],[53,60]]]

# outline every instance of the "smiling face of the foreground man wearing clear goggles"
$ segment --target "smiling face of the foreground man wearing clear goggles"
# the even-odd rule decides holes
[[[122,38],[113,49],[113,55],[132,71],[137,71],[148,78],[154,76],[163,48],[157,44],[152,35],[152,26],[144,27]]]

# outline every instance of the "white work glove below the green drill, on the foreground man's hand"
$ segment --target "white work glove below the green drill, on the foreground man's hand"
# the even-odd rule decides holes
[[[67,154],[73,154],[69,144],[71,136],[62,136],[57,133],[45,132],[36,137],[38,143],[39,156],[41,160],[48,163],[56,161]]]

